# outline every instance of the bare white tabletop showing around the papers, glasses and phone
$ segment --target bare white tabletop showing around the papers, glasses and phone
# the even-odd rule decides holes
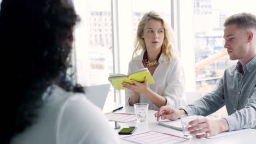
[[[113,104],[113,108],[111,107],[104,107],[103,112],[111,112],[114,109],[117,109],[120,106],[124,106],[123,109],[115,111],[116,113],[134,113],[133,106],[128,106],[128,105],[121,105],[121,104]],[[133,121],[131,123],[121,123],[119,122],[121,128],[126,128],[126,127],[137,127],[137,130],[133,134],[139,134],[143,133],[146,131],[154,130],[154,131],[159,131],[162,133],[168,133],[172,135],[177,135],[183,137],[182,131],[171,129],[164,127],[162,125],[158,125],[158,122],[156,122],[156,118],[154,117],[154,113],[156,111],[149,110],[148,111],[148,118],[147,122],[136,122]],[[114,128],[113,128],[114,129]],[[117,129],[115,131],[120,131],[120,129]],[[119,137],[123,136],[129,136],[129,135],[119,135]],[[181,143],[225,143],[225,144],[235,144],[235,143],[255,143],[256,140],[256,130],[254,131],[249,131],[246,133],[239,133],[239,134],[234,134],[234,135],[227,135],[227,136],[222,136],[222,137],[217,137],[214,139],[190,139]],[[130,141],[122,140],[120,139],[120,143],[132,143]]]

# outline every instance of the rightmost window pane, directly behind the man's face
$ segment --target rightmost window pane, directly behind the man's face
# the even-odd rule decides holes
[[[230,64],[228,53],[224,48],[223,23],[226,17],[242,12],[256,12],[252,1],[220,1],[194,0],[193,1],[193,35],[195,51],[195,82],[196,91],[206,94],[216,86],[224,70]],[[223,117],[225,107],[214,113]]]

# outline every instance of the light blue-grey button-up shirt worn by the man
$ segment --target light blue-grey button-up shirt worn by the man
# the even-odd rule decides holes
[[[230,65],[211,93],[183,109],[188,114],[207,116],[224,105],[229,131],[256,128],[256,56],[245,67],[240,62]]]

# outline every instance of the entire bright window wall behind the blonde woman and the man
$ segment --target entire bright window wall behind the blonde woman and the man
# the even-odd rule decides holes
[[[1,0],[0,0],[1,1]],[[74,61],[78,83],[108,83],[109,73],[126,74],[138,22],[155,10],[174,27],[184,65],[185,91],[212,91],[230,61],[224,49],[223,22],[231,14],[256,14],[250,0],[84,0],[74,1],[82,22],[75,29]],[[115,96],[115,97],[114,97]],[[124,91],[110,89],[109,101],[124,104]]]

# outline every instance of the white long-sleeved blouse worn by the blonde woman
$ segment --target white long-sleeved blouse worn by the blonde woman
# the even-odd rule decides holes
[[[145,68],[142,63],[143,54],[144,51],[130,61],[128,74]],[[161,54],[159,58],[159,65],[152,76],[155,83],[148,85],[148,87],[155,93],[165,97],[167,100],[166,105],[171,105],[174,109],[180,109],[184,106],[185,96],[183,67],[178,57],[174,57],[170,62],[167,56]],[[129,98],[131,95],[132,92],[130,89],[125,90],[125,101],[127,105],[129,105]],[[139,95],[139,103],[148,103],[148,108],[150,110],[159,109],[158,106],[149,101],[149,99],[143,94]]]

